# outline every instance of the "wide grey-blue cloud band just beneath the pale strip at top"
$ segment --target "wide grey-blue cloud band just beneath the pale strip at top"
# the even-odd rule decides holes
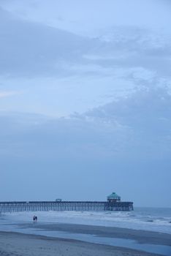
[[[0,9],[1,75],[66,77],[90,70],[142,67],[170,76],[170,36],[134,26],[106,27],[88,38],[20,18]],[[11,43],[12,42],[12,43]],[[81,67],[77,70],[77,67]]]

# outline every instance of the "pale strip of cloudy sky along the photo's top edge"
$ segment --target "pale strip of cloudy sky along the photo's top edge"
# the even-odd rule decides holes
[[[167,1],[1,1],[1,6],[25,20],[44,23],[82,35],[98,34],[109,26],[143,26],[170,31]],[[162,17],[162,19],[159,19]]]

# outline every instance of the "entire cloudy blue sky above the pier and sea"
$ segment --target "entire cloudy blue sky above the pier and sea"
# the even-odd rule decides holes
[[[0,200],[171,207],[168,0],[0,0]]]

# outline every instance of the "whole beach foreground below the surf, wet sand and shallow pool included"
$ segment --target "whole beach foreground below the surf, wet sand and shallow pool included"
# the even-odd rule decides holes
[[[13,223],[12,230],[0,231],[0,256],[13,255],[13,251],[6,248],[18,248],[15,249],[17,254],[24,255],[25,247],[29,244],[31,248],[31,255],[34,255],[34,251],[46,246],[54,247],[54,250],[61,248],[60,246],[70,246],[74,248],[72,254],[69,252],[63,252],[62,254],[55,254],[55,252],[47,253],[47,255],[171,255],[171,235],[167,233],[156,233],[153,231],[145,230],[132,230],[121,227],[104,227],[93,225],[75,225],[64,224],[54,222],[23,222]],[[10,225],[9,225],[10,227]],[[23,242],[21,242],[23,241]],[[56,241],[56,243],[54,242]],[[53,243],[52,245],[50,245]],[[46,244],[46,246],[45,246]],[[58,246],[56,245],[58,244]],[[80,244],[83,246],[80,248]],[[88,245],[88,251],[86,250]],[[23,247],[24,246],[24,247]],[[56,247],[57,246],[57,247]],[[23,251],[20,252],[20,248]],[[99,248],[100,252],[99,252]],[[7,251],[5,251],[7,249]],[[63,248],[64,249],[64,248]],[[42,255],[41,250],[36,255]],[[83,252],[82,254],[79,254]],[[12,253],[12,254],[11,254]],[[29,254],[27,254],[29,255]]]

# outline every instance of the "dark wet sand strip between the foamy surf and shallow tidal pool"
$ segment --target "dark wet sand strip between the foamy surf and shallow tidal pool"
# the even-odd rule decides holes
[[[46,231],[62,231],[77,234],[90,234],[99,237],[107,238],[123,238],[132,239],[140,244],[160,244],[171,246],[171,235],[165,233],[157,233],[145,230],[132,230],[129,228],[121,227],[104,227],[93,225],[73,225],[61,223],[23,223],[20,225],[22,228],[35,227],[38,230]]]

